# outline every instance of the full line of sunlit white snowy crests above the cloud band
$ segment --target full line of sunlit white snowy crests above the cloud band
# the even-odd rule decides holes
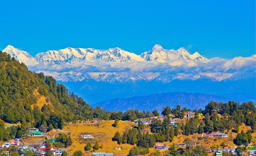
[[[136,62],[151,61],[166,62],[177,59],[191,59],[196,61],[205,60],[206,58],[197,52],[190,55],[184,48],[179,50],[164,50],[161,45],[156,44],[151,51],[144,52],[140,56],[130,53],[119,48],[110,48],[107,50],[97,50],[93,48],[66,48],[58,51],[47,51],[39,53],[32,57],[28,52],[20,51],[11,45],[8,45],[3,52],[10,54],[17,60],[26,65],[34,66],[39,63],[47,65],[53,64],[74,64],[75,62],[94,62],[96,60],[104,60],[105,62]]]

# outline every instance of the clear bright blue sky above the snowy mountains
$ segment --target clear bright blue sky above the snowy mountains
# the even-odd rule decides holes
[[[137,55],[155,44],[206,58],[255,54],[255,0],[1,1],[0,50],[119,47]]]

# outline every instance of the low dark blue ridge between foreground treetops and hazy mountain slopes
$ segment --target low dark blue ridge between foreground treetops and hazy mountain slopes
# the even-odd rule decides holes
[[[139,111],[153,111],[161,112],[162,107],[170,106],[176,107],[178,104],[181,108],[186,107],[191,110],[204,109],[210,101],[228,102],[235,101],[237,103],[249,102],[248,100],[226,98],[211,94],[188,93],[188,92],[173,92],[173,93],[159,93],[148,96],[135,96],[130,98],[115,98],[105,100],[94,104],[94,106],[101,106],[108,111],[118,110],[124,112],[125,110],[138,109]]]

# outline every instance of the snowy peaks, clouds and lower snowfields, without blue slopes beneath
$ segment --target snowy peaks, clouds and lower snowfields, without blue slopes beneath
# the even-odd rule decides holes
[[[28,52],[8,45],[3,52],[25,63],[31,70],[44,72],[62,82],[85,79],[108,83],[240,80],[243,77],[236,71],[236,68],[241,67],[238,62],[246,62],[244,59],[255,62],[255,55],[233,60],[219,58],[208,60],[197,52],[190,55],[184,48],[165,50],[159,44],[139,56],[120,48],[107,50],[66,48],[39,53],[33,57]],[[237,64],[240,66],[235,67]],[[232,72],[228,72],[230,69]]]

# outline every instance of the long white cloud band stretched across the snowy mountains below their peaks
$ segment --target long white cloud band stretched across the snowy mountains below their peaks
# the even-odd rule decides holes
[[[141,61],[141,62],[94,62],[78,61],[73,64],[37,64],[31,69],[56,72],[169,72],[169,73],[202,73],[202,72],[256,72],[256,58],[236,57],[233,59],[212,58],[208,60],[172,60],[168,62]]]

